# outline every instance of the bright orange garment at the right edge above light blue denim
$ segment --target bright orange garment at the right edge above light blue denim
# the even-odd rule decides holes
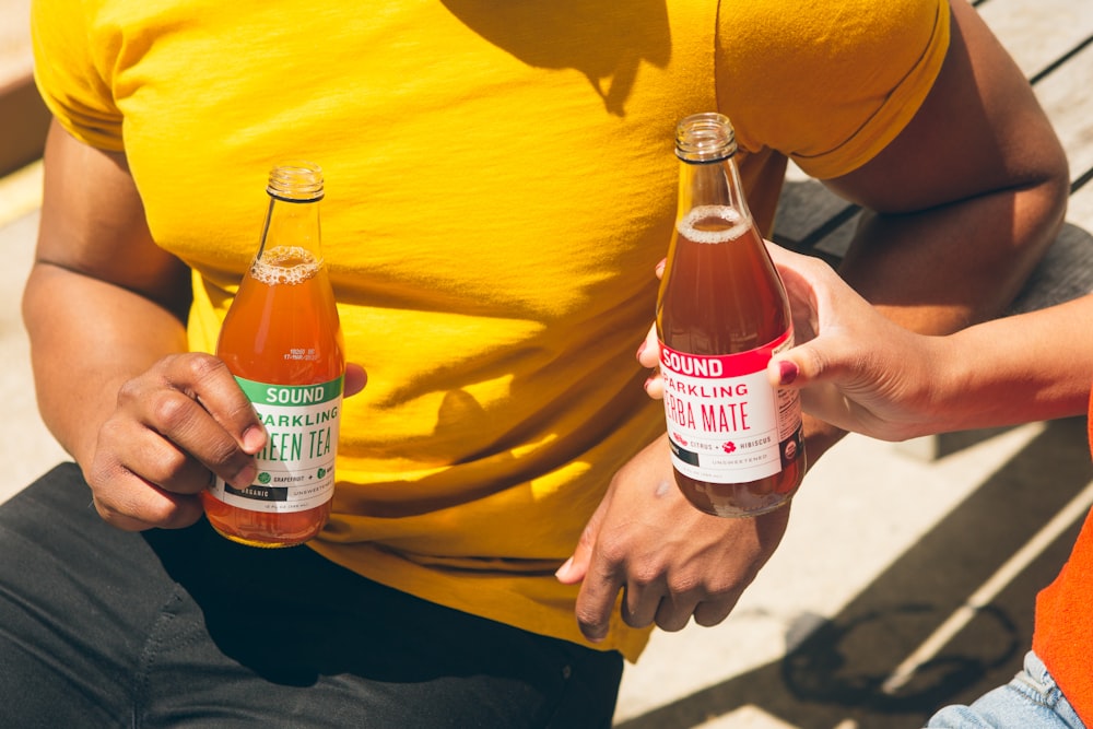
[[[1093,452],[1093,399],[1090,400],[1090,451]],[[1051,672],[1070,705],[1093,726],[1093,512],[1078,534],[1059,576],[1036,598],[1032,648]]]

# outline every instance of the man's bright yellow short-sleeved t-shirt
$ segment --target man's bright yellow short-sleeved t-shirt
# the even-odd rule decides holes
[[[269,168],[326,173],[346,350],[334,514],[313,544],[378,581],[581,642],[568,556],[663,428],[634,351],[673,224],[677,121],[733,121],[768,231],[785,157],[845,174],[910,119],[943,0],[279,3],[37,0],[36,77],[125,150],[212,351]],[[366,616],[362,616],[366,619]],[[634,659],[621,620],[603,649]]]

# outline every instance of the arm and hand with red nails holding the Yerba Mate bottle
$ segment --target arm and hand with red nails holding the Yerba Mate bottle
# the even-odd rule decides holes
[[[773,383],[802,389],[814,415],[900,440],[1085,412],[1093,295],[924,336],[878,314],[826,263],[769,247],[809,341],[768,372]]]

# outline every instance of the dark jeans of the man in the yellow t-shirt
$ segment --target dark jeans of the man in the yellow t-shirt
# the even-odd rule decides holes
[[[0,507],[0,727],[608,727],[601,652],[205,522],[118,531],[74,465]]]

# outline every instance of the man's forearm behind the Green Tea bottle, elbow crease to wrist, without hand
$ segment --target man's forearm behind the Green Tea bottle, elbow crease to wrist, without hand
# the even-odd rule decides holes
[[[23,298],[43,420],[85,466],[121,385],[186,349],[176,315],[149,298],[50,264],[35,264]]]

